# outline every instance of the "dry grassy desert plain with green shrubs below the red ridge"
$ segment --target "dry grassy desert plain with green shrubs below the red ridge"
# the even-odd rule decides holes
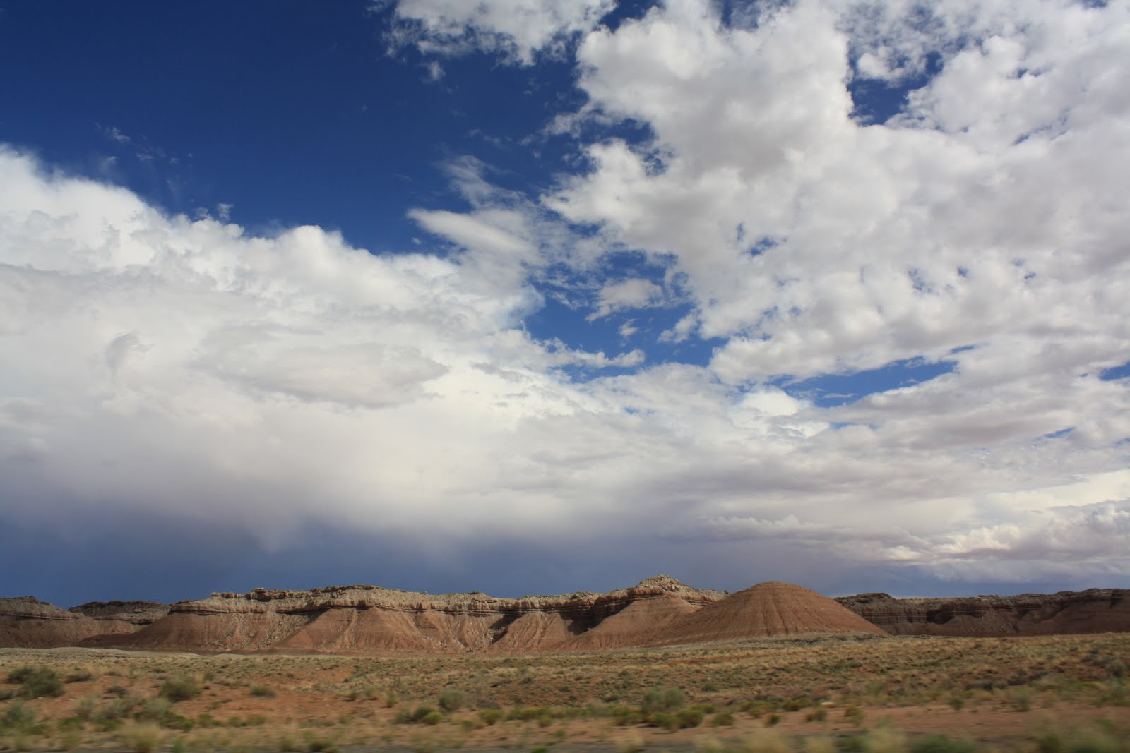
[[[1002,751],[1130,753],[1128,660],[1122,633],[541,656],[0,649],[0,690],[18,690],[3,680],[27,666],[68,680],[59,698],[0,701],[0,750],[330,753],[564,742],[609,751],[962,753],[968,747],[956,737],[967,737]],[[169,692],[181,688],[199,694]],[[678,691],[663,698],[679,708],[657,707],[659,689]],[[944,733],[955,739],[939,742]]]

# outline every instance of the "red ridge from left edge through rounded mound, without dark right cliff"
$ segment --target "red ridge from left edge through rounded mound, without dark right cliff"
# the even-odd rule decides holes
[[[815,592],[791,588],[796,590],[788,592],[792,598],[788,608],[784,602],[772,602],[777,606],[776,614],[785,615],[781,619],[756,616],[756,605],[747,604],[742,595],[747,592],[730,596],[693,588],[669,576],[646,578],[607,594],[577,592],[521,598],[495,598],[478,592],[432,595],[359,585],[310,590],[255,588],[245,594],[212,594],[167,607],[151,603],[89,604],[76,607],[81,615],[34,599],[6,599],[14,606],[0,616],[0,636],[5,646],[46,646],[54,641],[207,653],[529,654],[599,651],[671,640],[881,632]],[[798,599],[816,605],[798,605]],[[718,608],[727,604],[733,608]],[[828,616],[836,611],[838,615]],[[688,622],[702,612],[706,612],[707,620]],[[129,622],[127,615],[142,616]],[[809,622],[793,624],[792,615]],[[816,620],[814,615],[823,616]],[[75,629],[76,621],[82,621],[81,630]],[[53,624],[70,629],[54,630]],[[758,627],[751,630],[755,624]],[[34,641],[25,640],[33,636]]]

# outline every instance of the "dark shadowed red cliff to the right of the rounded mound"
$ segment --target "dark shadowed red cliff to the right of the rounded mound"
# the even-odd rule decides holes
[[[895,636],[1050,636],[1130,631],[1130,590],[894,598],[859,594],[836,599]]]

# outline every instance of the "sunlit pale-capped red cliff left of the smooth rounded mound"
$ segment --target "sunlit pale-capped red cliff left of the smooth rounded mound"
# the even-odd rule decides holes
[[[166,618],[118,645],[207,651],[592,650],[638,645],[657,624],[724,595],[667,576],[607,594],[522,598],[477,592],[429,595],[379,586],[257,588],[174,604]],[[646,603],[654,608],[638,606]],[[623,615],[623,624],[607,642],[581,638],[614,615]]]

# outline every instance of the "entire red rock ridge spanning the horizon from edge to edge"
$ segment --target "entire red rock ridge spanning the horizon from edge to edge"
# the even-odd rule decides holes
[[[1130,592],[838,599],[768,581],[736,594],[654,576],[607,594],[496,598],[380,586],[255,588],[165,605],[92,602],[61,610],[0,598],[0,647],[195,653],[537,654],[803,634],[1008,636],[1130,631]]]

